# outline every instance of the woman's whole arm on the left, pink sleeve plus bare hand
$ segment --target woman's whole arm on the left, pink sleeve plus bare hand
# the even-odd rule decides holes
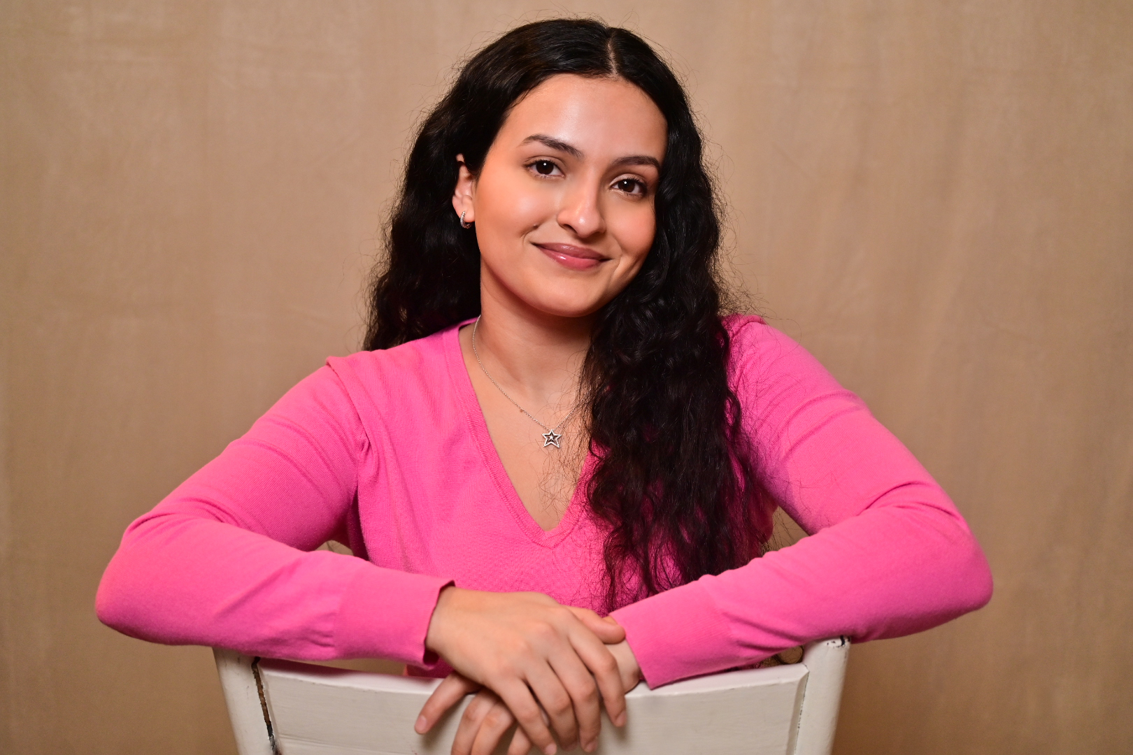
[[[452,589],[438,600],[449,580],[313,551],[351,529],[360,544],[349,522],[367,454],[342,384],[330,368],[315,372],[130,525],[99,587],[99,618],[143,640],[255,655],[423,666],[435,650],[525,712],[542,746],[553,739],[539,704],[565,741],[597,737],[598,688],[624,715],[603,644],[624,634],[591,611],[535,593]]]

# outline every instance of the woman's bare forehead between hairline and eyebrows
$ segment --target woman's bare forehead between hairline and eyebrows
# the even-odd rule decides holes
[[[552,76],[511,109],[496,135],[501,147],[519,147],[542,134],[580,149],[587,158],[665,155],[665,117],[645,92],[621,78]]]

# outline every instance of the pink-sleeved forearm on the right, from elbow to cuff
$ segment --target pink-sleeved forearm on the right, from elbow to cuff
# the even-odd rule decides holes
[[[920,632],[979,608],[990,591],[987,561],[962,523],[879,511],[612,616],[657,686],[827,636]]]

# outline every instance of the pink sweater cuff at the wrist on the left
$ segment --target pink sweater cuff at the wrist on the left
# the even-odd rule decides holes
[[[452,580],[373,564],[360,566],[342,593],[335,654],[416,666],[435,663],[436,654],[425,649],[425,635],[441,590]]]

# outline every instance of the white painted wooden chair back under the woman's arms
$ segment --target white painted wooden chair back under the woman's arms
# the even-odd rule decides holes
[[[604,719],[598,753],[829,755],[849,649],[838,637],[800,663],[638,685],[627,726]],[[448,755],[470,700],[423,737],[414,721],[437,679],[214,653],[240,755]]]

